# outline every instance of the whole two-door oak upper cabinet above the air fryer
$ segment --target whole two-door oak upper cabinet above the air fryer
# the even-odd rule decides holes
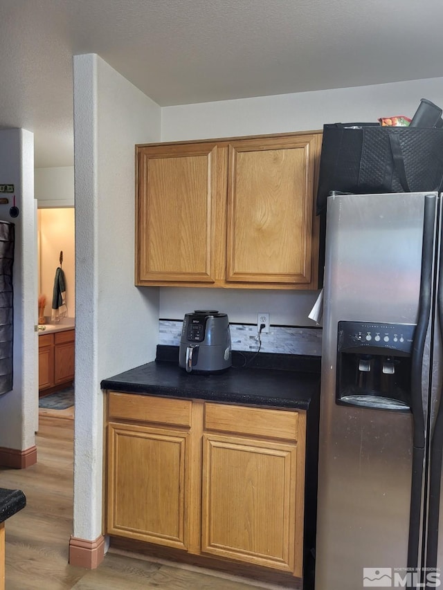
[[[320,133],[138,145],[136,284],[317,288]]]

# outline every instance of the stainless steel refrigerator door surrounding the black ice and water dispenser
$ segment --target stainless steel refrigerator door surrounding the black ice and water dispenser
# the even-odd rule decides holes
[[[407,566],[412,414],[336,404],[337,329],[343,320],[416,324],[424,200],[328,199],[316,590],[390,587],[392,571]]]

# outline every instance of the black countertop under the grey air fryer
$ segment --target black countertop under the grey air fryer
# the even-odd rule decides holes
[[[244,362],[248,365],[241,367]],[[233,351],[233,367],[197,375],[179,367],[178,347],[158,347],[155,361],[104,379],[100,386],[139,395],[308,409],[320,389],[320,358]]]

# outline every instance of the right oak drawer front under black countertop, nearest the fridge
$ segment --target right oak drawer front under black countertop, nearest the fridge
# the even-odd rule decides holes
[[[298,412],[206,403],[205,430],[297,441]]]

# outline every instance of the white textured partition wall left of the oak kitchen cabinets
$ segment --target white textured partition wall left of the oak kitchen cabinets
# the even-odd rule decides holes
[[[97,55],[74,57],[75,446],[73,536],[102,533],[100,380],[154,360],[158,289],[134,287],[134,145],[161,109]]]

